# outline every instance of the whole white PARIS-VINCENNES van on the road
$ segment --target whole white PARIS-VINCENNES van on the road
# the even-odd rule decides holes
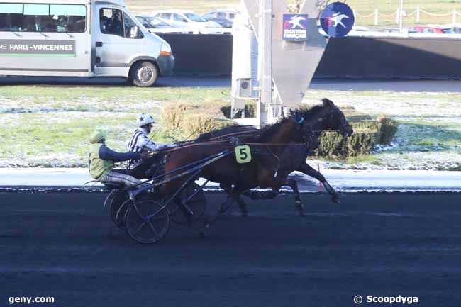
[[[170,76],[170,45],[123,0],[0,0],[0,75],[126,77],[151,86]]]

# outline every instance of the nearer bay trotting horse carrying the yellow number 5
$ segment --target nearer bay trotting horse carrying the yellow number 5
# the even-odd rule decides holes
[[[289,118],[283,118],[279,123],[271,125],[260,133],[256,143],[251,146],[252,159],[245,164],[239,164],[235,157],[234,145],[225,142],[191,143],[177,147],[167,153],[164,184],[159,187],[159,193],[168,196],[187,183],[193,177],[204,177],[212,182],[218,182],[234,199],[243,191],[260,186],[276,189],[282,185],[291,186],[291,179],[277,177],[280,157],[289,143],[306,137],[306,127],[302,112],[294,112]],[[304,146],[303,143],[291,144]],[[223,155],[223,152],[225,153]],[[189,179],[178,177],[176,169],[194,164],[213,157],[220,157],[212,164],[207,164]],[[246,210],[246,208],[242,208]],[[187,210],[186,210],[187,211]],[[183,210],[184,212],[184,210]],[[190,212],[189,212],[190,214]]]

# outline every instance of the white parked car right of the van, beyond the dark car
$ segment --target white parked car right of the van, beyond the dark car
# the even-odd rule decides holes
[[[186,10],[163,10],[155,11],[153,16],[162,19],[172,26],[179,28],[194,28],[195,33],[201,34],[221,34],[222,31],[217,29],[223,28],[219,23],[207,21],[194,11]]]

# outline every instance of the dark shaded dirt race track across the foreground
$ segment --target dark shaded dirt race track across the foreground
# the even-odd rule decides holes
[[[216,204],[223,194],[208,194]],[[172,225],[140,245],[111,225],[103,194],[0,194],[0,306],[461,306],[461,194],[304,195],[250,202],[199,238]],[[235,208],[236,210],[236,208]],[[401,306],[393,303],[391,306]]]

